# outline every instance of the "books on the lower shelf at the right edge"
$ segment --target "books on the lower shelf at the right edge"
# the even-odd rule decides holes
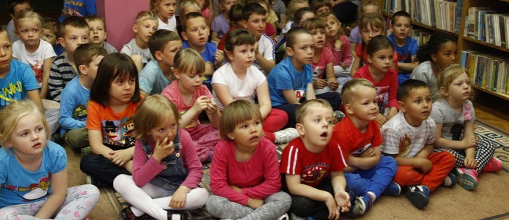
[[[509,94],[509,57],[465,50],[459,63],[468,70],[471,83],[481,88]]]

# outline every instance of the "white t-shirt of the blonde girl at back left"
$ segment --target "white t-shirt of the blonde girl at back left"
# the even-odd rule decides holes
[[[30,65],[34,71],[37,83],[41,86],[43,80],[43,64],[44,60],[56,56],[53,47],[50,43],[39,40],[39,48],[33,53],[26,51],[23,41],[18,40],[12,44],[12,57],[17,58],[18,61]]]

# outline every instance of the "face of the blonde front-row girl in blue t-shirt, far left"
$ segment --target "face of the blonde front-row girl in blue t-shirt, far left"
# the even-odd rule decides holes
[[[17,155],[40,155],[46,146],[46,131],[41,115],[32,112],[19,118],[4,146],[12,148]]]

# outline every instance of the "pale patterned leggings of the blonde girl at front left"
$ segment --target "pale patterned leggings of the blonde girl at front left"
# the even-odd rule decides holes
[[[1,208],[0,219],[39,219],[34,215],[41,210],[46,199]],[[54,219],[85,219],[98,200],[99,190],[93,185],[87,184],[67,188],[67,197],[65,197],[60,209],[56,211]]]

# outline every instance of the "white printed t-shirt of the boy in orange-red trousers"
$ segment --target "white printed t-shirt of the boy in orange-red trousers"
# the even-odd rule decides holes
[[[382,152],[402,157],[415,157],[425,145],[435,142],[435,121],[428,118],[420,126],[411,126],[401,111],[382,126]]]

